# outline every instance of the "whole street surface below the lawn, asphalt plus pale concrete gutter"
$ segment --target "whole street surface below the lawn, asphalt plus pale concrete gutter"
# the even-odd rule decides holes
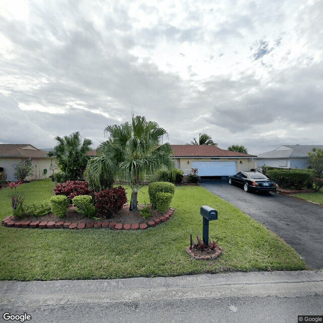
[[[296,323],[322,303],[323,271],[0,282],[1,322]]]

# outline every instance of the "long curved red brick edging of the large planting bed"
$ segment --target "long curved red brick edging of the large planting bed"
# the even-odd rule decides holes
[[[82,221],[72,223],[70,221],[13,221],[13,216],[9,216],[2,221],[2,225],[5,227],[13,227],[13,228],[40,228],[40,229],[88,229],[88,228],[107,228],[114,230],[145,230],[151,227],[155,227],[156,225],[168,221],[175,209],[170,207],[163,216],[158,218],[154,218],[153,220],[149,220],[144,223],[115,223],[110,222],[108,220],[98,221],[98,222],[88,222],[84,223]]]

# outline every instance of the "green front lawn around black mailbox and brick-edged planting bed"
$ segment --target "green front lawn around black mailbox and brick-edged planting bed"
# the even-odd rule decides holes
[[[49,179],[17,188],[26,202],[45,203],[52,194]],[[10,188],[0,191],[0,220],[11,214]],[[128,200],[130,189],[127,188]],[[149,201],[147,187],[139,203]],[[202,235],[201,205],[218,210],[209,238],[223,249],[211,261],[191,260],[185,252],[190,234]],[[0,280],[113,279],[179,276],[230,271],[306,270],[288,244],[245,213],[200,186],[178,186],[172,200],[176,213],[155,228],[50,230],[0,227]],[[195,240],[195,239],[194,239]]]

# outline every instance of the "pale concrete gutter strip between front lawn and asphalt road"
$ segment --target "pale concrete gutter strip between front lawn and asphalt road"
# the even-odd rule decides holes
[[[0,282],[0,309],[228,297],[323,295],[323,271],[203,274],[90,281]]]

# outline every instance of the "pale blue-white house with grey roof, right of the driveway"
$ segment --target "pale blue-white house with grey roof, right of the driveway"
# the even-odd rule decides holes
[[[283,145],[275,150],[260,153],[255,159],[256,168],[271,166],[277,168],[308,168],[308,153],[323,145]]]

